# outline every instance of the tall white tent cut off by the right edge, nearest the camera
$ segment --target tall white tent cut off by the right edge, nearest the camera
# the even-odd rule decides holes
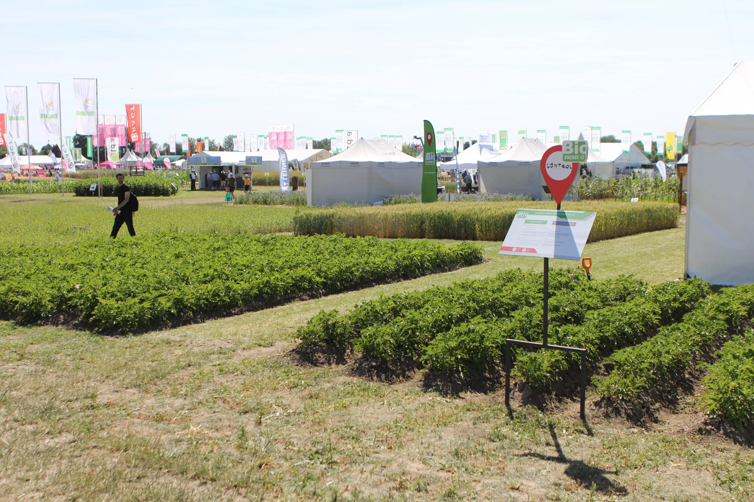
[[[738,63],[688,117],[683,141],[686,274],[713,284],[754,282],[754,62]]]

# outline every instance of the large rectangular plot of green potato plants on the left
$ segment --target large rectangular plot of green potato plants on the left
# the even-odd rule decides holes
[[[194,233],[0,248],[0,318],[129,331],[479,263],[405,239]]]

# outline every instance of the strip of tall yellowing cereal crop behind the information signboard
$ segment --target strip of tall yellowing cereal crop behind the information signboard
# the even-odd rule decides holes
[[[554,208],[553,202],[401,204],[315,208],[293,218],[296,235],[344,233],[383,238],[502,241],[517,208]],[[590,242],[674,228],[678,206],[666,202],[565,202],[563,209],[596,211]]]

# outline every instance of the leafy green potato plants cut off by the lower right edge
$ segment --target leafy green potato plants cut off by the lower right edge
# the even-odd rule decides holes
[[[715,364],[700,365],[711,373],[702,379],[699,406],[739,427],[754,426],[754,331],[734,336],[717,355]]]

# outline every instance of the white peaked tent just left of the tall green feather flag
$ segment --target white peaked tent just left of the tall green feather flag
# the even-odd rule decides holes
[[[422,163],[382,138],[360,138],[342,153],[311,163],[307,205],[374,204],[403,193],[421,193]]]

